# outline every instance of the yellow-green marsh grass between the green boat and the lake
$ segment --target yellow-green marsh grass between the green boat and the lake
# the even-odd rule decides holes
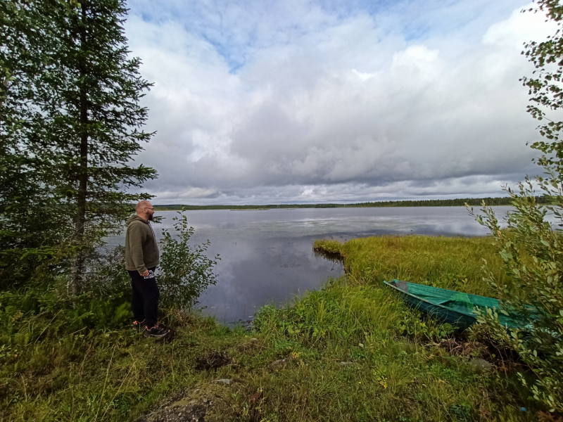
[[[381,236],[319,240],[314,248],[346,258],[348,283],[380,286],[399,279],[486,296],[493,289],[483,281],[483,260],[493,264],[500,283],[505,280],[491,243],[489,238]]]

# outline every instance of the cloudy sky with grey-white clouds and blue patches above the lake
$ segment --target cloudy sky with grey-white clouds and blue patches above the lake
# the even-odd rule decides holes
[[[536,174],[521,0],[129,0],[153,203],[500,196]]]

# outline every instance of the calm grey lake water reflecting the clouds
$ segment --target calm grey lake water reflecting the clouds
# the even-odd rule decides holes
[[[495,207],[500,219],[510,207]],[[171,229],[175,211],[160,211],[156,236]],[[267,303],[284,305],[305,290],[320,288],[328,277],[343,274],[341,264],[312,252],[317,238],[350,238],[382,234],[484,236],[487,229],[464,207],[296,208],[267,211],[186,211],[194,226],[191,243],[211,241],[208,256],[220,255],[217,284],[200,298],[204,314],[230,324],[252,318]],[[108,239],[125,243],[125,236]]]

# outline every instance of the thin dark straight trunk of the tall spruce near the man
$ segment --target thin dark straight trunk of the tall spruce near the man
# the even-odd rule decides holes
[[[82,14],[80,25],[80,49],[87,50],[86,47],[86,4],[82,2]],[[83,56],[84,57],[84,56]],[[82,84],[80,85],[80,166],[78,169],[78,195],[77,195],[77,213],[75,217],[75,238],[74,245],[76,255],[72,259],[70,293],[79,295],[82,289],[82,276],[84,275],[84,225],[86,224],[86,196],[88,188],[88,96],[87,87],[84,81],[87,77],[86,63],[80,66],[80,76]]]

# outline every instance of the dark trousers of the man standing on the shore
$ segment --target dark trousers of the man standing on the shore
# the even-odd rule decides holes
[[[148,276],[144,277],[139,271],[129,271],[131,276],[131,284],[133,287],[133,295],[131,298],[131,307],[135,321],[145,321],[144,325],[151,328],[156,325],[158,314],[158,298],[160,292],[156,285],[154,271],[156,267],[148,269]]]

